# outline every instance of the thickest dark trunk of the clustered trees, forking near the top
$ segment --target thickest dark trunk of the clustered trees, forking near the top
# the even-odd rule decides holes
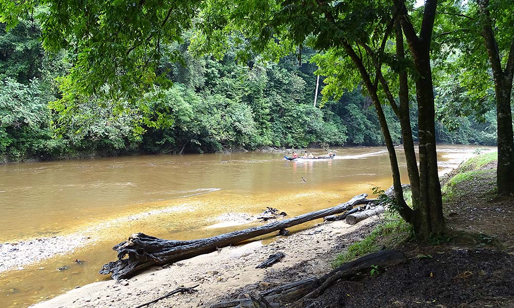
[[[414,231],[421,239],[443,233],[443,200],[435,145],[435,107],[430,67],[430,43],[437,0],[427,0],[419,37],[410,21],[405,1],[394,0],[400,24],[411,50],[419,76],[416,79],[419,126],[419,204],[414,210]]]

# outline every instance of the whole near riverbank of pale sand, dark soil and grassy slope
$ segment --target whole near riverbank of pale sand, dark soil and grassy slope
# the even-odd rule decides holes
[[[405,241],[403,227],[400,233],[384,233],[388,227],[383,226],[381,218],[354,226],[340,221],[322,223],[268,244],[256,241],[226,247],[170,266],[151,268],[119,283],[109,280],[89,284],[32,307],[130,307],[177,287],[196,284],[198,292],[177,294],[152,307],[209,307],[321,276],[332,268],[336,256],[348,249],[367,254],[380,247],[400,249],[408,263],[375,275],[364,273],[359,280],[340,281],[313,301],[313,307],[511,307],[514,197],[494,195],[495,162],[491,158],[493,155],[472,159],[444,177],[449,232],[447,237],[430,243]],[[381,230],[378,236],[372,232],[377,227]],[[373,234],[370,244],[369,236]],[[363,238],[366,240],[358,243]],[[276,252],[286,257],[268,269],[254,268]]]

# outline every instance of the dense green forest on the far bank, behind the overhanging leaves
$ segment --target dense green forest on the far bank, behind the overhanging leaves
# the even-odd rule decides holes
[[[238,61],[237,46],[223,56],[190,51],[191,33],[163,48],[159,59],[171,87],[144,94],[144,107],[126,108],[105,97],[67,106],[62,77],[77,54],[45,51],[41,27],[21,20],[12,30],[0,24],[0,161],[59,159],[128,153],[214,152],[226,148],[383,145],[377,114],[362,89],[347,89],[338,100],[321,90],[315,105],[317,64],[308,48],[270,61]],[[482,110],[455,114],[469,100],[464,86],[441,73],[435,86],[436,141],[493,145],[497,124],[490,97]],[[450,80],[450,81],[449,81]],[[492,92],[492,89],[489,89]],[[99,102],[100,100],[100,102]],[[462,108],[461,108],[462,109]],[[459,110],[461,110],[459,109]],[[411,126],[417,140],[417,107],[411,95]],[[402,143],[398,119],[384,113],[395,144]],[[143,115],[152,114],[152,121]],[[157,123],[157,124],[156,124]]]

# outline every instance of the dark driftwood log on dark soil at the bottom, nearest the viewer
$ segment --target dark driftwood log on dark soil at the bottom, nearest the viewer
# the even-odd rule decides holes
[[[326,289],[341,279],[352,279],[360,273],[369,273],[375,266],[379,270],[407,262],[407,257],[400,251],[384,250],[345,263],[320,278],[311,277],[292,282],[261,293],[271,306],[303,307],[308,301],[319,297]],[[213,304],[210,308],[245,307],[248,300]],[[251,306],[250,306],[251,307]]]

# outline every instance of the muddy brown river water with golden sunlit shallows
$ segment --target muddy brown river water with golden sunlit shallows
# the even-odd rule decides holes
[[[476,148],[440,145],[440,169],[457,166]],[[234,225],[223,219],[226,214],[255,215],[271,206],[292,217],[391,185],[385,148],[334,150],[335,159],[315,161],[246,152],[0,166],[0,243],[55,236],[66,237],[69,244],[89,238],[64,255],[30,264],[20,260],[20,266],[0,273],[0,306],[26,307],[110,279],[98,269],[116,257],[112,246],[132,233],[179,240],[208,237],[249,226]],[[403,182],[408,182],[401,155],[400,165]],[[76,264],[76,258],[84,262]],[[58,271],[63,265],[69,269]]]

